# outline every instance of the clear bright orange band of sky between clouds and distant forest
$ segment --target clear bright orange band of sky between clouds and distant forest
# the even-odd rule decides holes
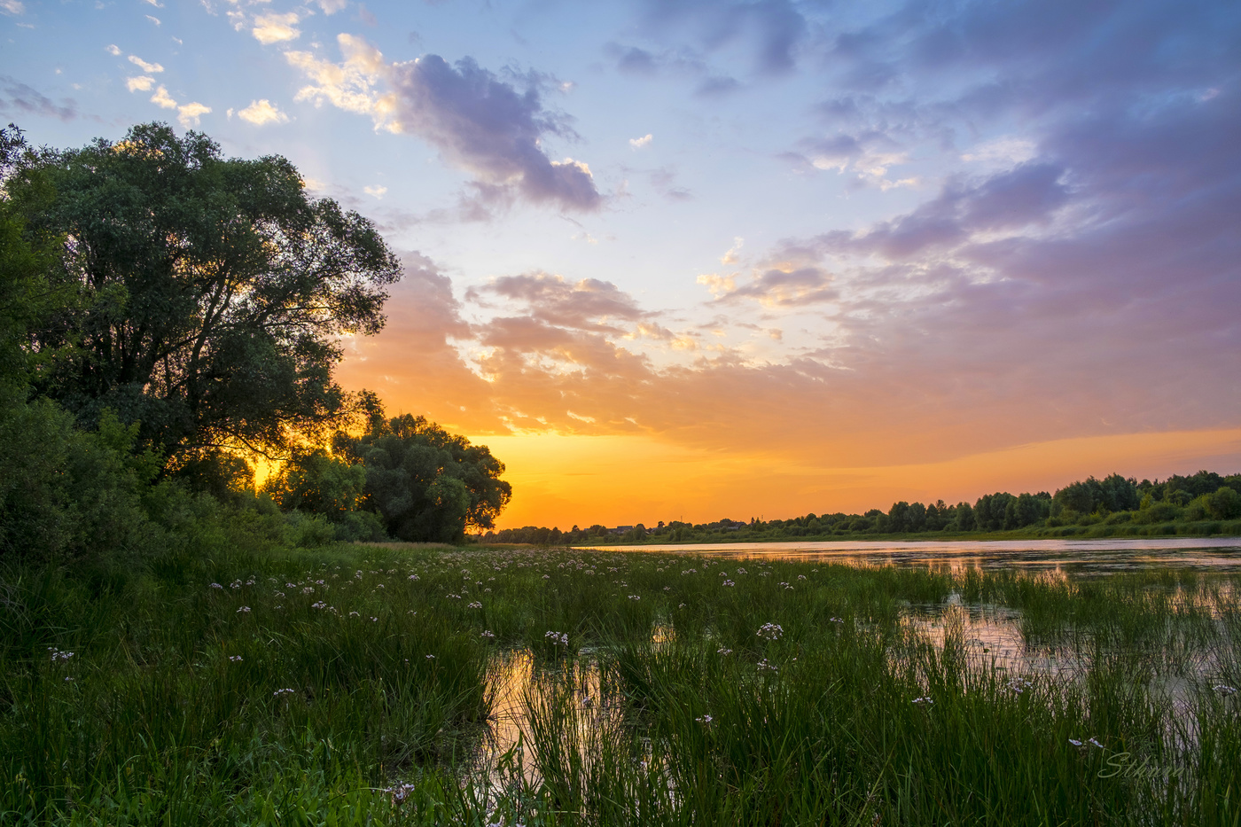
[[[956,503],[997,490],[1055,492],[1075,479],[1113,472],[1153,479],[1200,468],[1241,469],[1241,428],[1081,437],[875,467],[812,467],[776,453],[702,451],[648,436],[546,433],[470,441],[489,446],[506,466],[503,478],[514,495],[500,528],[886,512],[901,499]]]

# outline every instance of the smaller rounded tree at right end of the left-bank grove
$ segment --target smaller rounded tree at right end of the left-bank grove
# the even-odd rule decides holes
[[[457,543],[467,529],[491,528],[513,495],[486,446],[422,416],[372,417],[360,437],[339,432],[334,448],[366,466],[365,508],[402,540]]]

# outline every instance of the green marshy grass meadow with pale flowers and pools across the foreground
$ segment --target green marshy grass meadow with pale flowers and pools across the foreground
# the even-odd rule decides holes
[[[0,823],[1239,825],[1237,585],[396,544],[11,564]]]

